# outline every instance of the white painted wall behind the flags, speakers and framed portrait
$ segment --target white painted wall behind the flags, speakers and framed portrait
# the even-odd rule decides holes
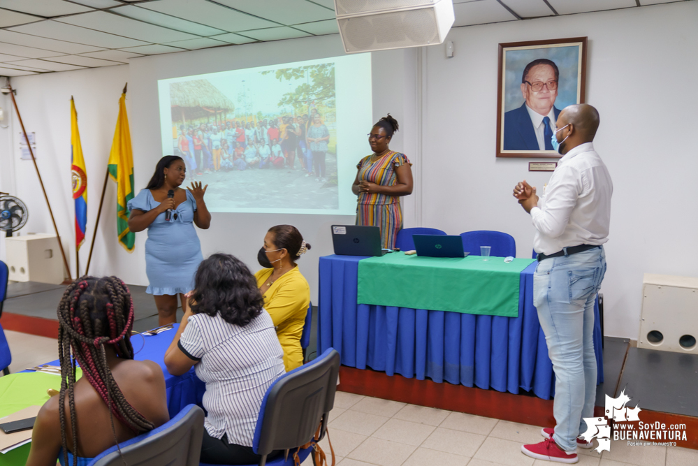
[[[548,175],[528,173],[528,159],[495,158],[497,44],[588,36],[587,101],[601,113],[596,147],[615,185],[611,240],[606,247],[609,270],[603,286],[606,334],[637,337],[642,274],[698,276],[698,209],[692,202],[698,173],[698,151],[692,144],[698,126],[693,82],[698,75],[697,20],[698,2],[672,3],[453,29],[448,38],[456,43],[452,59],[444,57],[442,45],[375,53],[374,117],[386,112],[398,117],[401,131],[391,147],[414,162],[416,191],[403,205],[405,226],[432,226],[453,234],[507,231],[516,238],[517,255],[530,257],[533,228],[511,197],[511,189],[523,178],[542,185]],[[140,189],[161,154],[158,79],[340,54],[339,37],[324,36],[14,78],[27,130],[37,133],[39,166],[65,242],[73,244],[68,176],[71,94],[78,105],[87,157],[89,242],[124,82],[129,81],[127,103]],[[8,184],[3,181],[8,166],[2,152],[7,139],[3,131],[8,130],[0,129],[0,186]],[[13,159],[17,196],[31,208],[25,231],[51,231],[31,162],[18,161],[17,153]],[[109,210],[103,213],[90,271],[146,284],[145,233],[137,235],[136,251],[126,254],[116,243],[111,182],[105,203]],[[214,214],[212,228],[200,231],[199,237],[204,254],[231,252],[254,270],[266,229],[295,224],[313,245],[300,267],[316,300],[317,259],[331,254],[329,226],[353,221],[353,217],[314,215]],[[83,251],[86,255],[87,248]]]

